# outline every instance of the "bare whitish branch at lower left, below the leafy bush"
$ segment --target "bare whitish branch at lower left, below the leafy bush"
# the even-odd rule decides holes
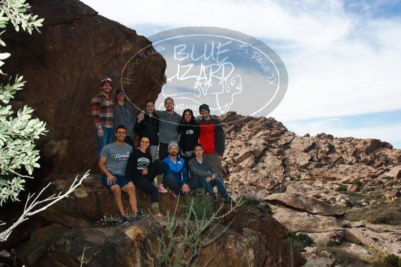
[[[39,213],[45,209],[47,209],[49,206],[53,205],[54,203],[56,203],[57,201],[63,199],[64,197],[68,197],[68,195],[72,192],[75,191],[75,189],[80,186],[82,184],[82,181],[84,179],[86,179],[89,176],[89,171],[88,170],[84,176],[82,176],[82,178],[78,181],[78,175],[77,177],[75,177],[74,182],[71,184],[70,188],[64,193],[61,194],[61,192],[55,196],[55,194],[49,196],[46,199],[40,200],[38,201],[38,197],[44,192],[44,190],[51,184],[49,183],[46,187],[44,187],[40,193],[35,197],[35,199],[32,201],[31,204],[28,205],[28,202],[30,201],[30,199],[35,195],[35,193],[33,193],[32,195],[28,194],[28,198],[27,198],[27,202],[25,203],[25,208],[24,208],[24,212],[22,213],[22,215],[18,218],[18,220],[11,225],[7,230],[0,232],[0,242],[2,241],[6,241],[7,238],[10,236],[11,232],[23,221],[27,220],[29,216],[32,216],[36,213]],[[78,181],[78,182],[77,182]],[[35,209],[34,208],[38,205],[38,204],[42,204],[45,202],[49,202],[47,203],[44,207],[41,207],[39,209]],[[5,223],[2,223],[5,224]],[[2,225],[0,224],[0,225]]]

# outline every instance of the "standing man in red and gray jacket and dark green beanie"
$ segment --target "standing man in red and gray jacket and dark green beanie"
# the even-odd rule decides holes
[[[199,121],[199,143],[203,146],[203,158],[209,159],[215,167],[218,176],[223,179],[221,159],[225,149],[224,129],[217,117],[210,115],[207,104],[199,106],[202,118]]]

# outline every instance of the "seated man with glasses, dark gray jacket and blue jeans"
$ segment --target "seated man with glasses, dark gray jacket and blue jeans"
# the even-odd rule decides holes
[[[223,196],[224,202],[235,205],[236,202],[228,196],[224,183],[218,177],[212,162],[203,157],[203,146],[200,143],[194,146],[194,153],[195,157],[188,161],[191,179],[197,179],[203,185],[203,188],[211,195],[213,203],[219,201],[217,194],[213,190],[213,187],[217,186],[217,190]]]

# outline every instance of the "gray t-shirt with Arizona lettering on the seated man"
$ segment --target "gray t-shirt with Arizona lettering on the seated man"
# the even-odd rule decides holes
[[[107,158],[105,166],[113,174],[125,175],[125,167],[132,152],[132,146],[124,143],[123,146],[116,142],[107,144],[103,147],[100,156]]]

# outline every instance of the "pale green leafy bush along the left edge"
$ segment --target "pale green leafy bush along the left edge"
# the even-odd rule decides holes
[[[6,28],[7,23],[11,22],[17,31],[20,25],[30,34],[33,29],[39,31],[38,27],[42,26],[44,19],[28,13],[28,8],[30,5],[25,0],[0,1],[0,28]],[[0,45],[6,46],[6,43],[0,39]],[[0,67],[4,64],[2,60],[9,56],[10,53],[0,53]],[[1,69],[0,73],[4,74]],[[19,200],[18,194],[24,189],[24,178],[33,178],[21,172],[27,171],[32,175],[34,167],[39,167],[39,150],[34,149],[34,140],[46,132],[46,123],[32,118],[32,108],[24,106],[14,114],[9,104],[24,83],[23,76],[16,76],[14,81],[10,78],[7,84],[0,84],[0,205],[8,198]]]

